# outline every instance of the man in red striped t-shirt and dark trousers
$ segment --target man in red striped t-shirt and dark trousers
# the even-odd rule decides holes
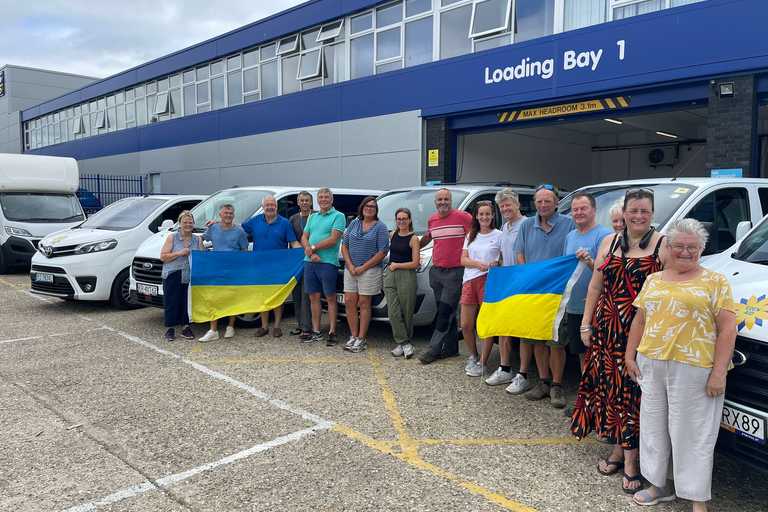
[[[429,286],[437,305],[435,330],[429,348],[419,356],[422,364],[459,354],[456,312],[464,276],[461,251],[464,238],[472,227],[472,216],[453,208],[451,191],[447,188],[441,188],[435,194],[435,208],[437,212],[429,217],[427,232],[420,241],[421,247],[433,242]]]

